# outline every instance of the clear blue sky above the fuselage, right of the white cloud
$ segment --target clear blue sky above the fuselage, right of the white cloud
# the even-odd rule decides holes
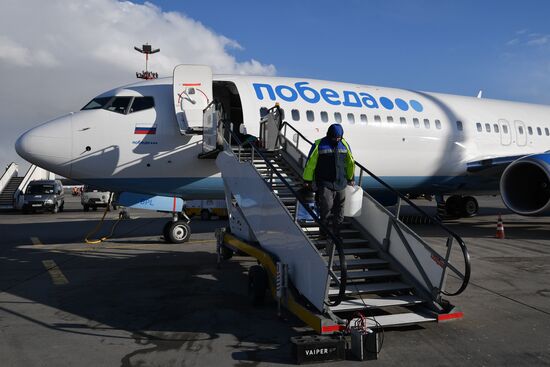
[[[548,1],[152,1],[278,75],[550,103]]]

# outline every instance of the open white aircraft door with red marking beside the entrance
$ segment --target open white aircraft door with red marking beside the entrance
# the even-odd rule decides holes
[[[212,69],[206,65],[174,68],[174,108],[180,133],[202,133],[203,110],[212,101]]]

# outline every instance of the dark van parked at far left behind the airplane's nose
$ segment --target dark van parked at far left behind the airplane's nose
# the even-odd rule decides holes
[[[47,210],[52,213],[63,211],[65,194],[59,180],[31,181],[23,198],[23,213]]]

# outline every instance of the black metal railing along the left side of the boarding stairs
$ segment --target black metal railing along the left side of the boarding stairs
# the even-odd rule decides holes
[[[278,108],[278,107],[274,107]],[[280,180],[280,182],[288,189],[289,192],[292,193],[294,198],[296,199],[297,203],[300,203],[304,209],[307,211],[307,213],[313,218],[313,221],[319,226],[319,229],[327,234],[327,237],[330,239],[330,242],[332,243],[332,246],[329,246],[329,260],[328,260],[328,273],[330,277],[334,280],[334,282],[338,285],[338,295],[333,301],[325,301],[326,304],[329,306],[337,306],[340,304],[340,302],[344,299],[346,294],[346,285],[347,285],[347,265],[346,265],[346,258],[344,254],[344,247],[342,244],[342,241],[336,237],[331,230],[327,228],[325,224],[323,224],[320,220],[320,218],[317,216],[317,214],[307,205],[307,203],[303,200],[301,195],[296,192],[296,190],[288,183],[288,181],[283,177],[283,175],[277,170],[277,168],[270,162],[270,160],[261,152],[260,148],[255,146],[253,143],[243,143],[235,134],[235,132],[231,129],[231,124],[229,121],[221,120],[220,121],[222,129],[222,134],[224,137],[224,149],[229,150],[233,152],[233,154],[236,155],[239,162],[250,162],[252,165],[254,165],[254,159],[255,157],[261,158],[264,163],[269,168],[269,171],[272,174],[275,174],[277,178]],[[228,138],[226,138],[228,136]],[[234,146],[234,145],[236,146]],[[250,157],[243,158],[243,151],[245,146],[250,147]],[[234,151],[236,149],[236,152]],[[266,184],[266,186],[269,187],[269,184],[267,181],[263,180]],[[269,187],[271,190],[271,187]],[[279,199],[280,200],[280,199]],[[281,202],[281,205],[282,202]],[[298,205],[296,205],[296,212],[298,211]],[[294,218],[295,219],[295,218]],[[328,247],[327,247],[328,248]],[[340,276],[334,272],[333,270],[333,264],[334,264],[334,255],[335,251],[338,254],[338,260],[340,262]]]

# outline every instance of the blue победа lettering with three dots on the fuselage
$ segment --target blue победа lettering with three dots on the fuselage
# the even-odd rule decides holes
[[[265,83],[253,83],[256,97],[263,101],[267,96],[272,101],[276,101],[277,98],[285,102],[294,102],[298,98],[308,103],[319,103],[321,99],[333,106],[346,106],[346,107],[367,107],[367,108],[380,108],[380,105],[387,110],[393,110],[395,107],[402,111],[408,111],[412,108],[416,112],[422,112],[424,106],[414,99],[406,101],[402,98],[388,98],[380,97],[376,98],[373,95],[365,92],[354,92],[344,90],[338,92],[330,88],[322,88],[317,90],[308,86],[308,82],[296,82],[293,86],[277,85],[273,87],[271,84]]]

